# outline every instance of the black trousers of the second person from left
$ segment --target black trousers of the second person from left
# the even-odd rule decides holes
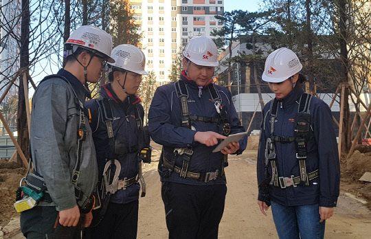
[[[85,238],[137,238],[138,206],[138,201],[126,204],[109,203],[102,221],[98,226],[87,229]]]

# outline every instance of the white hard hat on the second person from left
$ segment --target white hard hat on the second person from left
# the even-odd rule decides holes
[[[115,63],[109,63],[112,67],[148,75],[147,71],[144,71],[146,56],[138,47],[129,44],[117,45],[113,48],[111,56],[115,59]]]

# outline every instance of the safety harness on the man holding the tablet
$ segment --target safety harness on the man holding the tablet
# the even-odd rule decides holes
[[[209,93],[212,97],[212,102],[214,102],[215,109],[218,113],[218,117],[205,117],[199,115],[190,115],[190,111],[188,109],[188,89],[186,83],[183,80],[178,80],[174,84],[175,91],[177,92],[177,96],[179,98],[179,103],[181,106],[181,126],[186,127],[189,129],[193,129],[192,122],[206,122],[206,123],[214,123],[218,125],[219,131],[227,136],[231,131],[231,126],[227,120],[227,111],[225,110],[222,103],[221,95],[219,95],[216,87],[214,84],[210,84],[208,87]],[[162,177],[169,177],[171,172],[176,172],[179,174],[179,177],[186,179],[194,179],[197,181],[203,181],[205,183],[217,179],[218,177],[222,177],[224,174],[224,168],[227,166],[228,159],[227,155],[224,155],[223,161],[221,162],[221,168],[219,170],[215,170],[213,172],[189,172],[188,166],[190,165],[190,161],[192,159],[194,151],[192,147],[186,148],[175,148],[173,152],[173,159],[167,159],[163,152],[161,152],[160,163],[159,163],[159,174]],[[182,159],[182,166],[181,168],[175,166],[175,159]],[[162,170],[161,166],[166,168],[166,170]]]

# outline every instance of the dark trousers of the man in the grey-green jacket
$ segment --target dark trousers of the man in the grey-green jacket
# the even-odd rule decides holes
[[[77,239],[81,238],[81,223],[77,227],[63,227],[59,223],[54,229],[58,212],[56,207],[36,206],[21,212],[21,231],[27,239]]]

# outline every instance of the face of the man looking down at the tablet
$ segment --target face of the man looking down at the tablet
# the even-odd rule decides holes
[[[186,58],[183,58],[183,69],[187,71],[188,78],[196,82],[199,87],[209,84],[214,76],[214,67],[196,65]]]

